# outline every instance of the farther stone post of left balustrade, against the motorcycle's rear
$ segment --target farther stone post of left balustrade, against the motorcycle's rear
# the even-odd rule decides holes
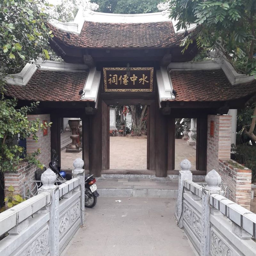
[[[79,178],[80,179],[80,188],[81,189],[81,225],[84,225],[84,161],[81,158],[76,158],[74,160],[73,166],[75,167],[72,171],[72,177],[73,178]]]

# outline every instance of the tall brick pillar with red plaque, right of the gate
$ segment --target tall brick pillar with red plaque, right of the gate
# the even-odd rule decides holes
[[[232,116],[209,115],[207,125],[207,172],[219,170],[219,159],[230,159]],[[213,136],[211,135],[213,121]]]

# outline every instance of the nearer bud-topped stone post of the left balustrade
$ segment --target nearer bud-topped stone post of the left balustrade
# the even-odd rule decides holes
[[[54,182],[56,181],[56,174],[48,168],[42,174],[41,181],[43,186],[38,189],[38,193],[49,192],[51,194],[51,204],[46,206],[46,211],[50,213],[50,255],[59,256],[59,186],[54,185]]]

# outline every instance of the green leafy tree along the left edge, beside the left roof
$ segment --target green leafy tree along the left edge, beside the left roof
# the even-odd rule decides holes
[[[17,100],[6,99],[5,77],[7,73],[20,71],[24,65],[38,57],[49,59],[46,50],[53,36],[46,27],[48,15],[44,12],[49,4],[40,0],[0,1],[0,172],[14,171],[20,164],[23,148],[17,145],[18,136],[26,138],[50,124],[28,122],[27,114],[38,106],[17,108]],[[16,141],[16,142],[15,142]],[[36,156],[26,154],[24,160],[41,166]],[[3,177],[3,175],[1,175]]]

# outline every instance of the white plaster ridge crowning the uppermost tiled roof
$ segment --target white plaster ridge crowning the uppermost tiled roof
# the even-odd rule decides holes
[[[50,20],[52,26],[79,35],[84,25],[84,21],[92,21],[99,23],[152,23],[172,21],[175,34],[184,33],[186,30],[190,31],[196,28],[196,25],[191,25],[187,29],[179,29],[175,26],[178,20],[170,20],[169,12],[154,12],[154,13],[141,13],[141,14],[115,14],[104,12],[93,12],[88,10],[83,12],[79,9],[76,18],[73,22],[61,22],[58,20]]]

